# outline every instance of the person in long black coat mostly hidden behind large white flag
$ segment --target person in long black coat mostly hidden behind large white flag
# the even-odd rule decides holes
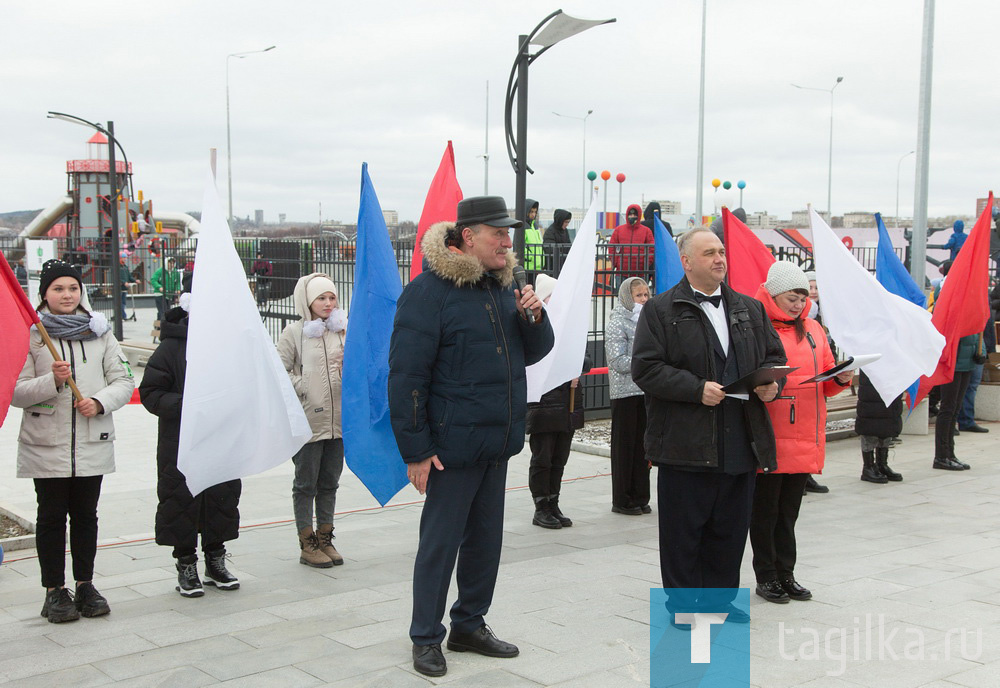
[[[185,285],[189,287],[189,284]],[[186,306],[190,294],[182,295]],[[187,368],[188,314],[183,306],[167,311],[160,323],[160,345],[149,357],[139,385],[146,410],[159,417],[156,445],[156,543],[172,546],[177,560],[177,591],[183,597],[205,594],[198,577],[198,536],[205,555],[205,583],[236,590],[239,580],[226,568],[225,543],[239,537],[239,480],[213,485],[193,496],[177,469],[184,373]]]

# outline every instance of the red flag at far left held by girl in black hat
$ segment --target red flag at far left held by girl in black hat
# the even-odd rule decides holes
[[[31,326],[36,322],[38,314],[7,259],[0,253],[0,332],[4,333],[3,346],[0,346],[0,425],[7,417],[17,376],[28,355]]]

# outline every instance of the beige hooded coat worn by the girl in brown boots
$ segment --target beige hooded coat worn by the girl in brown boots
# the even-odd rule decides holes
[[[305,285],[313,273],[295,286],[292,301],[302,316],[288,325],[278,338],[278,356],[302,402],[313,431],[310,442],[342,436],[340,429],[340,388],[346,332],[323,331],[322,337],[306,337],[302,326],[312,319],[306,303]]]

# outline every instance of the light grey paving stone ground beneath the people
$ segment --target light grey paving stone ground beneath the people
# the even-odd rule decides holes
[[[15,411],[0,428],[0,504],[31,516],[31,481],[13,478],[18,422]],[[242,588],[182,599],[170,550],[151,541],[155,419],[129,406],[116,422],[118,472],[104,483],[95,576],[112,613],[47,623],[38,614],[43,594],[34,552],[9,552],[0,566],[0,683],[649,684],[656,507],[650,516],[612,514],[606,458],[572,454],[561,501],[574,526],[559,531],[531,525],[528,455],[511,460],[503,560],[488,620],[521,655],[446,652],[448,674],[427,679],[411,667],[407,638],[421,509],[415,491],[378,508],[345,472],[336,532],[346,563],[316,570],[297,562],[290,463],[249,478],[244,528],[229,547]],[[804,499],[797,529],[797,577],[814,599],[770,605],[754,598],[748,649],[755,685],[1000,686],[1000,424],[987,425],[988,435],[958,438],[960,456],[973,466],[962,473],[931,469],[932,436],[905,436],[892,459],[905,475],[900,484],[860,482],[858,441],[830,444],[821,481],[831,492]],[[752,585],[749,547],[742,580]],[[892,644],[880,646],[879,633]],[[814,637],[830,644],[820,647]],[[661,684],[669,677],[658,677]]]

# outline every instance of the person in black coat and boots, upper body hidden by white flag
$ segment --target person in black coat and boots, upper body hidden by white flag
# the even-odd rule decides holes
[[[864,372],[858,376],[858,408],[854,432],[861,438],[861,479],[884,485],[900,482],[903,476],[889,468],[889,448],[892,440],[903,431],[903,396],[888,406]]]

